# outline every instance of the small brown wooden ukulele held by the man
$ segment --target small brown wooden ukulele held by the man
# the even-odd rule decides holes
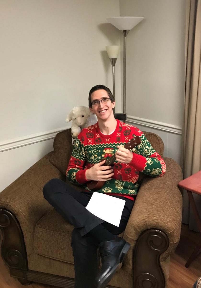
[[[135,136],[128,143],[126,143],[124,148],[130,150],[131,148],[134,148],[135,146],[139,145],[140,143],[141,143],[141,140],[140,140],[139,136]],[[115,154],[113,154],[110,158],[107,158],[107,159],[103,158],[100,162],[102,162],[104,160],[106,160],[105,165],[114,166],[113,163],[116,160]],[[93,181],[92,180],[92,181],[87,183],[87,187],[90,190],[97,191],[97,190],[101,189],[104,184],[105,184],[105,181]]]

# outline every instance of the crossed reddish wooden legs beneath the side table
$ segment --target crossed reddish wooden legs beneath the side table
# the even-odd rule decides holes
[[[193,212],[194,212],[194,216],[195,216],[195,219],[196,219],[196,222],[198,224],[198,227],[199,227],[199,230],[201,232],[201,220],[200,220],[200,215],[198,213],[198,209],[196,207],[196,203],[195,203],[195,200],[193,198],[193,195],[192,195],[192,192],[191,191],[187,191],[188,192],[188,197],[189,197],[189,200],[190,200],[190,204],[192,206],[192,209],[193,209]],[[196,256],[198,255],[198,252],[200,251],[201,249],[201,243],[199,243],[196,248],[194,249],[193,253],[191,254],[191,256],[189,257],[188,261],[186,262],[185,264],[185,267],[189,267],[189,265],[191,264],[191,262],[196,258]]]

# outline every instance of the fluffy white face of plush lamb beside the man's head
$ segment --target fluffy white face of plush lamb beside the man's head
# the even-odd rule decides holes
[[[71,120],[73,123],[77,124],[78,126],[83,126],[90,115],[93,113],[90,111],[88,107],[85,106],[76,106],[74,107],[68,117],[66,118],[66,122],[70,122]]]

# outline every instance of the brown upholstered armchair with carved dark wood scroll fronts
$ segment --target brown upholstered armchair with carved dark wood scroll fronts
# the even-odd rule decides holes
[[[144,134],[162,156],[161,138]],[[54,151],[0,193],[1,257],[10,275],[22,284],[34,281],[70,288],[74,287],[74,227],[43,198],[42,189],[52,178],[66,181],[71,130],[58,133],[53,146]],[[182,180],[182,171],[173,159],[164,160],[163,177],[140,175],[139,193],[127,227],[120,234],[131,248],[109,283],[113,287],[168,287],[170,255],[181,230],[182,197],[177,183]]]

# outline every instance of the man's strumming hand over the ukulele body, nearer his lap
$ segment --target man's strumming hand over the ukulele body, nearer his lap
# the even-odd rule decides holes
[[[111,180],[112,179],[111,177],[114,175],[113,169],[111,169],[111,166],[103,166],[104,163],[105,160],[87,169],[85,174],[86,179],[93,181]]]

